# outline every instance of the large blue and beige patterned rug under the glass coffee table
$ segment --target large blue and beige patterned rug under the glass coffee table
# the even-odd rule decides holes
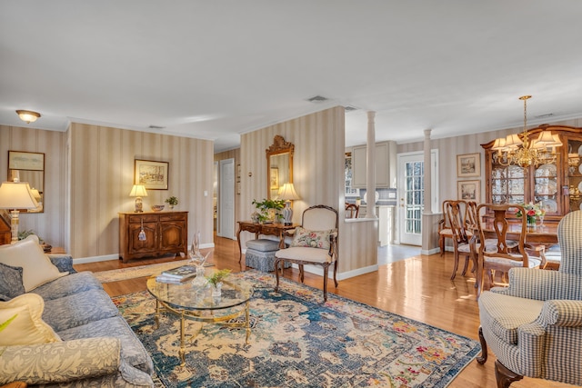
[[[114,302],[146,346],[166,387],[446,387],[480,351],[476,341],[256,271],[252,333],[206,324],[180,366],[179,319],[160,318],[147,292]],[[186,333],[199,323],[188,322]]]

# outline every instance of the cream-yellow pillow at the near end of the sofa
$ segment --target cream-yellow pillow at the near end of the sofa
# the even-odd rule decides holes
[[[0,302],[0,323],[8,323],[0,335],[0,346],[55,343],[61,341],[42,320],[45,301],[37,293],[24,293],[9,302]]]

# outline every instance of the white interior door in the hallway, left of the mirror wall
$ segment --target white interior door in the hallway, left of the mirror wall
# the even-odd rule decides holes
[[[219,231],[221,237],[235,239],[235,159],[220,161]]]

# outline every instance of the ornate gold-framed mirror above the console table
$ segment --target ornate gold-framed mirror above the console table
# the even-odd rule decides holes
[[[295,145],[277,134],[266,149],[266,197],[276,199],[283,184],[293,183],[293,151]]]

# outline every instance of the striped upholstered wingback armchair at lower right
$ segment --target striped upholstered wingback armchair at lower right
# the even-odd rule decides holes
[[[559,270],[512,268],[509,286],[479,298],[479,339],[497,356],[497,387],[523,376],[582,384],[582,211],[567,214],[557,234]]]

